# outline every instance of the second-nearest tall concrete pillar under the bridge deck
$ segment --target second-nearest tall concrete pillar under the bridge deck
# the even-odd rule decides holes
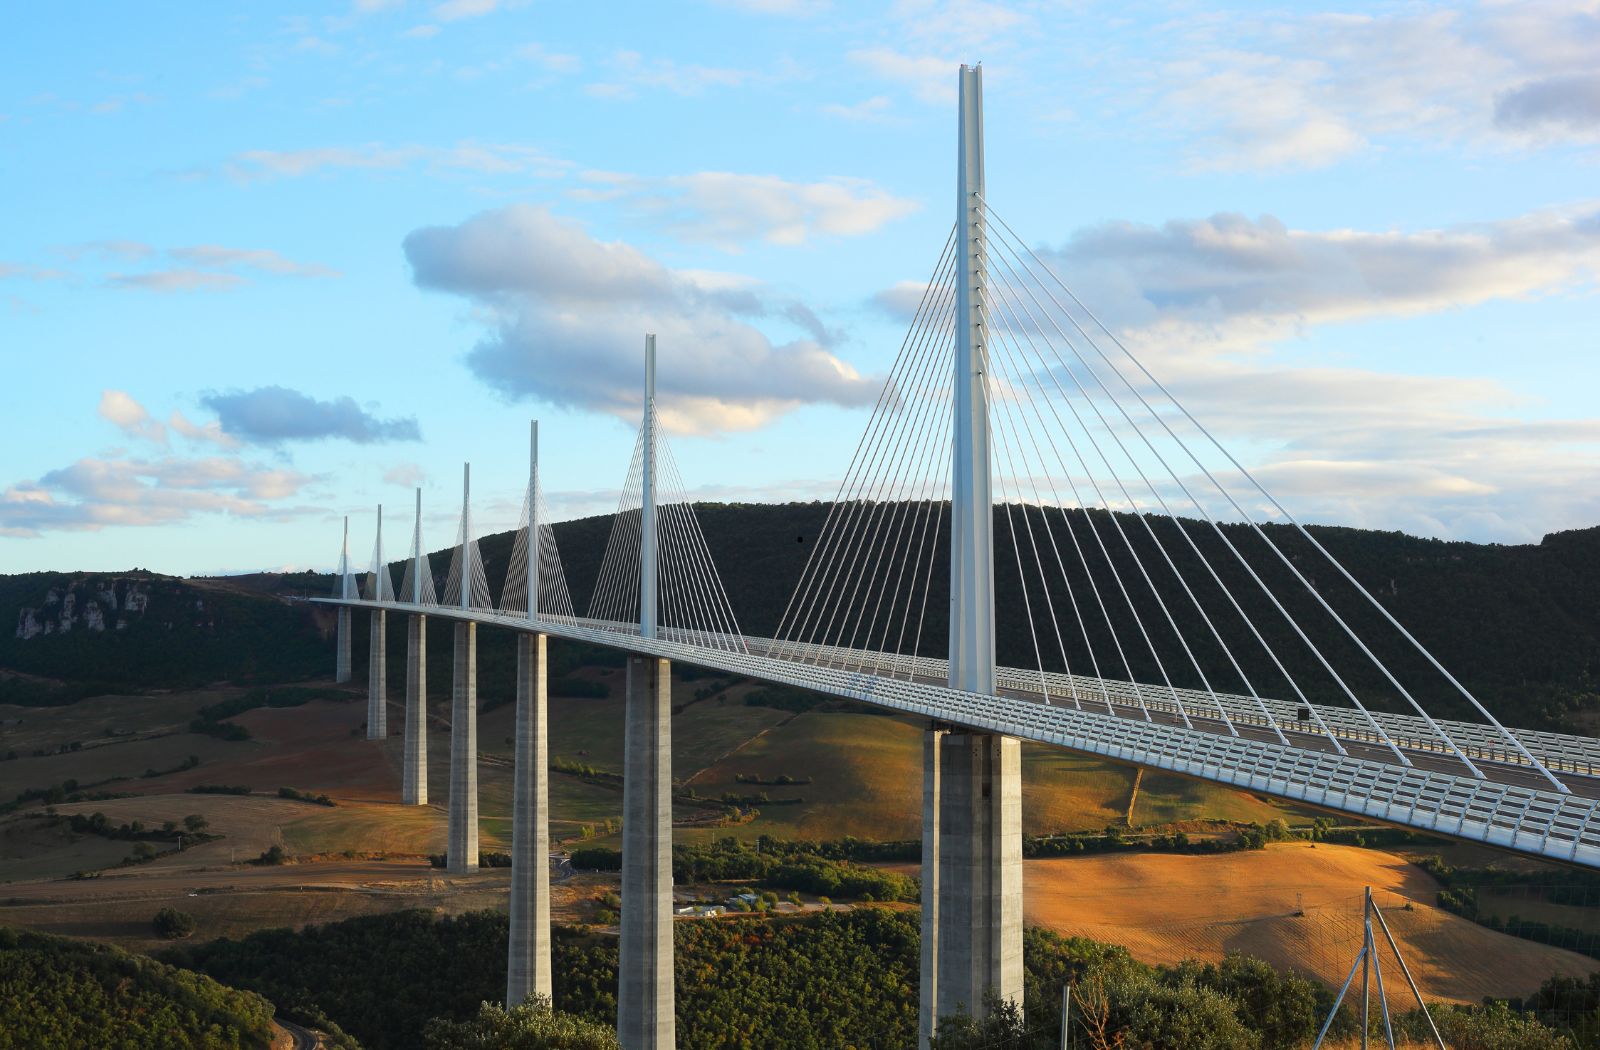
[[[672,663],[627,659],[622,768],[622,1050],[674,1050]]]

